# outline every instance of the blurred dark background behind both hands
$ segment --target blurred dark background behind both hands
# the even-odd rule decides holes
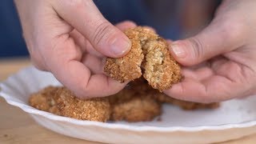
[[[94,0],[112,23],[131,20],[152,26],[164,38],[186,38],[202,30],[220,0]],[[13,0],[0,5],[0,58],[28,56]]]

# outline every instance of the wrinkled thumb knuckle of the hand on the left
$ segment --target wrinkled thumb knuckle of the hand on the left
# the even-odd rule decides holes
[[[110,24],[110,22],[101,22],[98,24],[98,26],[96,26],[92,36],[93,42],[97,45],[104,41],[107,42],[108,38],[110,38],[112,34],[114,34],[114,27]]]

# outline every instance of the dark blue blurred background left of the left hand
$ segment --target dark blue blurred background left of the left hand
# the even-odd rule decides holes
[[[0,58],[26,56],[26,44],[22,38],[18,14],[12,0],[0,4]]]

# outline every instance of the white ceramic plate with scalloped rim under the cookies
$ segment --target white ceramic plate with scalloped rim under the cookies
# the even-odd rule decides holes
[[[1,83],[0,95],[18,106],[40,125],[74,138],[108,143],[209,143],[222,142],[256,132],[256,97],[222,102],[217,110],[184,111],[163,106],[162,121],[90,122],[36,110],[29,95],[60,83],[50,73],[28,67]]]

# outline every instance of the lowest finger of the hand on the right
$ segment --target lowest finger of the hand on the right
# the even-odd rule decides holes
[[[230,81],[230,79],[214,75],[205,81],[186,79],[172,89],[166,90],[171,97],[191,102],[221,102],[230,98],[236,98],[242,94],[242,85]]]

